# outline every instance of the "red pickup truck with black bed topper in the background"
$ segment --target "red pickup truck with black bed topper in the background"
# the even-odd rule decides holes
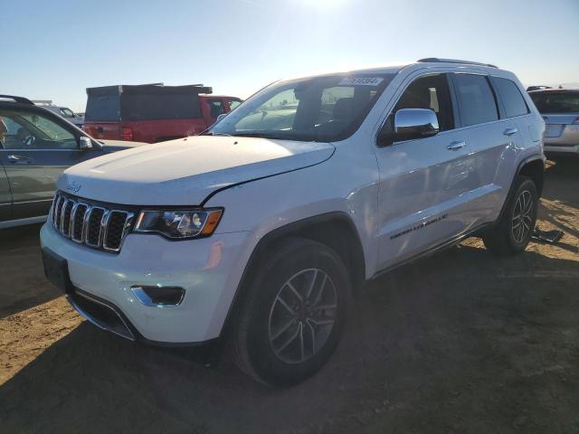
[[[195,136],[242,103],[211,93],[211,88],[196,84],[88,88],[84,129],[97,139],[147,143]]]

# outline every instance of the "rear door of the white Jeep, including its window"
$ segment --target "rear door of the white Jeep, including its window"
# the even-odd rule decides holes
[[[473,229],[498,217],[523,141],[514,118],[502,114],[488,75],[452,73],[451,78],[470,152],[470,201],[462,212]]]

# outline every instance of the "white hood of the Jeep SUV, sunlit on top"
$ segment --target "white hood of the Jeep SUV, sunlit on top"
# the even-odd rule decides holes
[[[216,190],[321,163],[328,143],[198,136],[138,146],[73,165],[63,192],[128,205],[198,205]]]

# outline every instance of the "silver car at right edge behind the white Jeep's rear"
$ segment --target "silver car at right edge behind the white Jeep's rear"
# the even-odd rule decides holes
[[[579,155],[579,90],[535,90],[529,95],[546,122],[545,152]]]

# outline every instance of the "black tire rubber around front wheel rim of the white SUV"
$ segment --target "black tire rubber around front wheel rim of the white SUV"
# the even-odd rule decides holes
[[[264,382],[273,386],[286,386],[301,382],[327,362],[335,351],[346,322],[350,300],[350,284],[346,268],[333,251],[315,241],[295,243],[274,255],[253,282],[251,317],[246,332],[247,354],[252,370]],[[332,279],[337,292],[337,315],[324,346],[303,363],[285,363],[273,352],[269,340],[269,316],[271,306],[282,285],[303,269],[322,269]]]

